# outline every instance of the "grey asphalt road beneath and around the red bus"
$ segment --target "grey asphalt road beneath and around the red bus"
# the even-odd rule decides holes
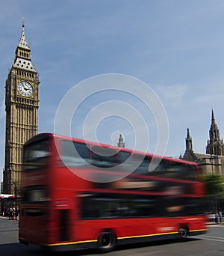
[[[24,246],[18,242],[18,222],[0,219],[0,252],[1,255],[49,255],[39,246]],[[54,253],[55,255],[55,253]],[[78,252],[60,252],[56,255],[96,256],[97,252],[83,250]],[[102,254],[101,254],[102,255]],[[110,252],[109,256],[223,256],[224,255],[224,225],[209,227],[208,233],[193,237],[186,242],[165,240],[157,243],[143,243],[131,246],[121,246]]]

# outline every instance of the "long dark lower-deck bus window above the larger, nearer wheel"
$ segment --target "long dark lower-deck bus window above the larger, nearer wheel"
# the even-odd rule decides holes
[[[155,196],[81,194],[81,219],[139,218],[158,216]]]

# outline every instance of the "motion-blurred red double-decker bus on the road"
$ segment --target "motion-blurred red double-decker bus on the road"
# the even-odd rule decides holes
[[[196,163],[52,133],[23,154],[20,243],[109,252],[206,232]]]

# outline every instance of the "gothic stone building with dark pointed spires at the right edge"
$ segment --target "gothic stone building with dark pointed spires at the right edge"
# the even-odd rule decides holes
[[[187,128],[186,150],[181,157],[187,161],[197,162],[204,174],[224,175],[224,144],[220,139],[220,131],[217,127],[214,111],[211,112],[211,127],[209,130],[209,139],[206,146],[206,153],[195,153],[193,151],[193,142],[190,136],[190,130]]]

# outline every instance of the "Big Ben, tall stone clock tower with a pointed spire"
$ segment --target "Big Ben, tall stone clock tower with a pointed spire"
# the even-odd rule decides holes
[[[22,34],[16,47],[16,56],[5,83],[5,160],[3,192],[17,195],[22,171],[22,146],[37,134],[39,107],[39,78],[31,62],[31,49]]]

